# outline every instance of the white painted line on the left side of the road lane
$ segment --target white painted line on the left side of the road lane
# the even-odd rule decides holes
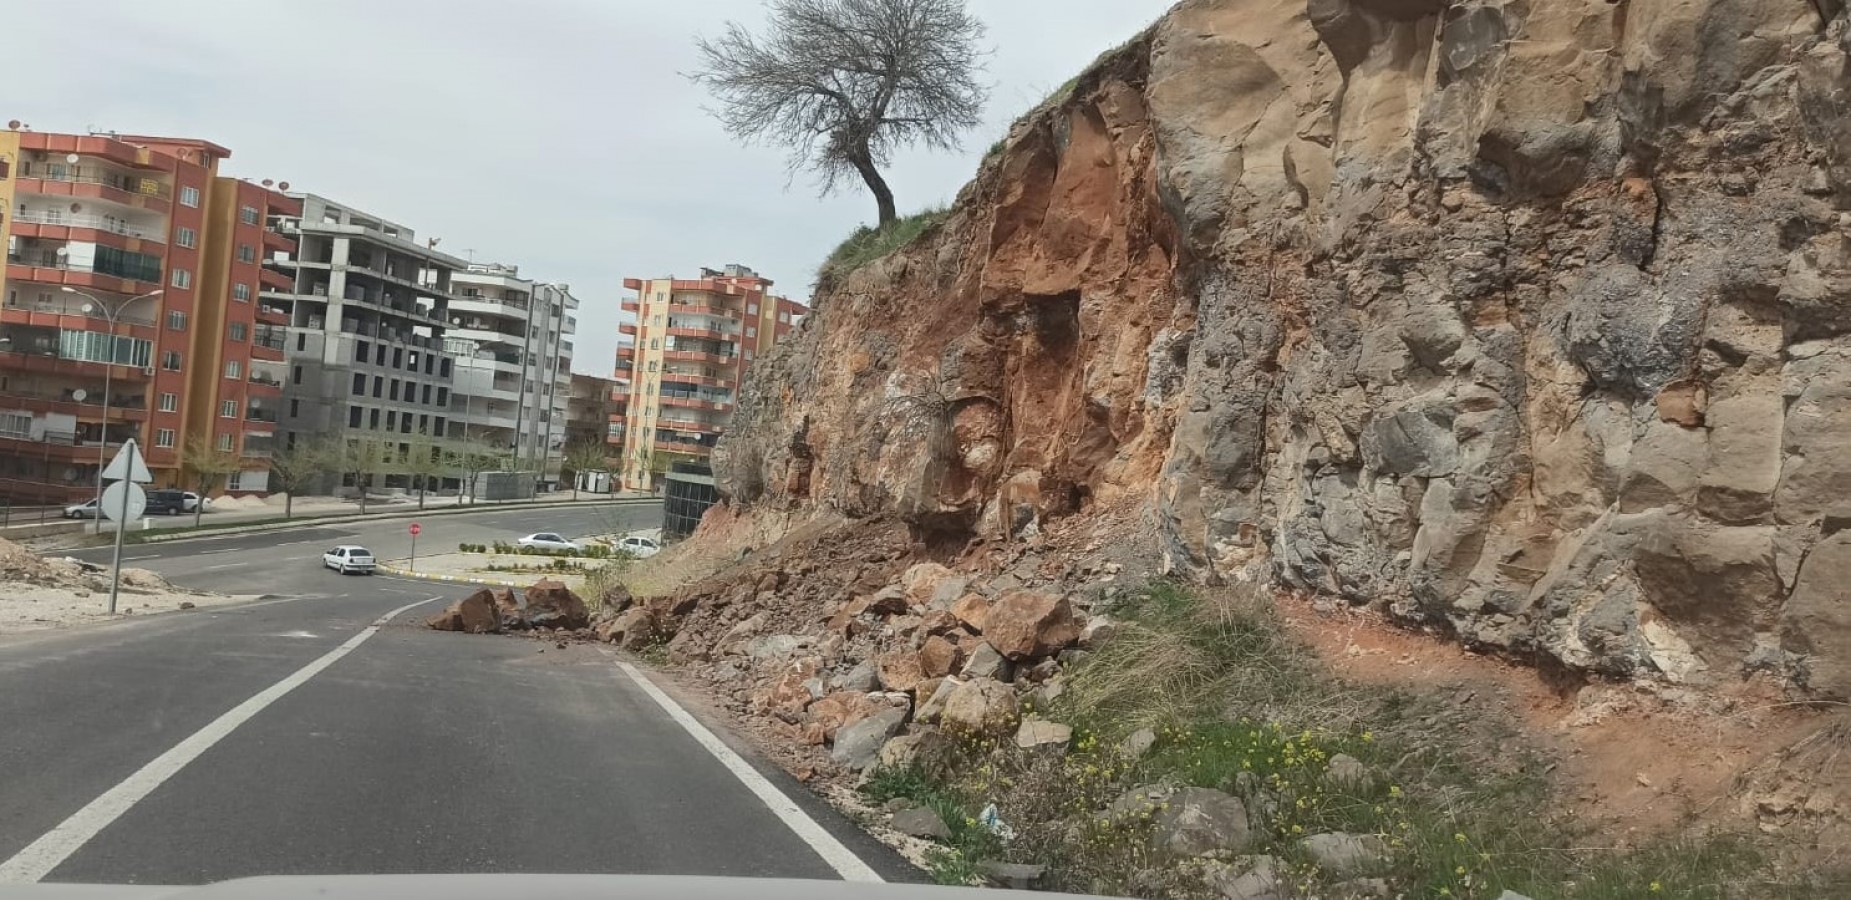
[[[296,669],[281,681],[263,689],[257,696],[244,700],[242,704],[231,707],[231,711],[213,719],[211,724],[200,728],[185,741],[174,744],[168,752],[154,757],[148,765],[135,770],[135,774],[122,780],[122,783],[104,791],[102,796],[91,800],[83,809],[70,813],[50,831],[39,835],[37,841],[26,844],[24,850],[13,854],[11,859],[0,863],[0,883],[7,881],[39,881],[41,878],[52,874],[70,854],[78,852],[87,844],[98,831],[109,826],[128,813],[144,796],[161,787],[168,778],[194,761],[213,744],[224,741],[226,735],[237,730],[237,726],[248,722],[252,717],[261,713],[267,706],[283,698],[283,694],[302,687],[309,678],[320,674],[322,669],[335,665],[342,656],[354,652],[355,646],[366,643],[368,637],[379,631],[379,626],[391,622],[394,617],[411,609],[415,606],[429,604],[431,600],[441,600],[437,596],[429,600],[418,600],[415,604],[405,604],[391,613],[374,619],[370,626],[363,628],[361,633],[350,637],[344,644],[329,650],[320,659]]]

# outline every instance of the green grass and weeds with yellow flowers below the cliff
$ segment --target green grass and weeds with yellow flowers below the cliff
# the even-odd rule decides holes
[[[1012,841],[953,828],[929,859],[955,883],[985,859],[1050,867],[1048,887],[1129,896],[1212,896],[1199,867],[1155,854],[1153,809],[1105,815],[1133,787],[1211,787],[1242,798],[1248,854],[1279,861],[1285,896],[1331,896],[1351,876],[1320,870],[1309,835],[1375,835],[1398,896],[1534,900],[1781,898],[1816,887],[1766,876],[1757,835],[1684,831],[1610,846],[1559,813],[1547,759],[1512,722],[1449,696],[1333,678],[1257,598],[1201,598],[1157,583],[1118,600],[1107,646],[1066,672],[1040,709],[1075,726],[1064,754],[1011,741],[959,748],[942,770],[877,772],[872,800],[907,796],[974,822],[996,804]],[[1122,750],[1140,728],[1155,743]],[[1362,778],[1333,772],[1340,756]],[[1346,767],[1351,763],[1344,763]]]

